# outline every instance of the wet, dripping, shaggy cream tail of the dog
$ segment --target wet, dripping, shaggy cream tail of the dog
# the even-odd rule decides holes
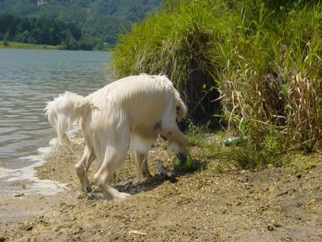
[[[66,132],[70,130],[73,121],[80,119],[90,107],[92,104],[86,98],[71,92],[65,92],[47,103],[45,111],[50,124],[57,132],[57,144],[59,141],[65,143],[74,153]]]

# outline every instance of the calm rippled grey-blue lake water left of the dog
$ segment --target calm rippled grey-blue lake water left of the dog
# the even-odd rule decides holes
[[[65,91],[88,95],[110,81],[107,52],[0,49],[0,167],[28,165],[55,136],[46,102]]]

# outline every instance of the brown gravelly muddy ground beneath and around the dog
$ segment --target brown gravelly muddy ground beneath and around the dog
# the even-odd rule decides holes
[[[218,137],[208,140],[222,145]],[[37,168],[39,178],[67,183],[64,191],[0,198],[0,212],[8,214],[0,222],[0,242],[322,241],[320,154],[292,154],[288,166],[247,171],[220,159],[206,162],[204,150],[191,147],[192,157],[204,166],[177,172],[170,181],[155,166],[161,159],[172,169],[173,154],[159,141],[148,158],[153,177],[138,181],[129,155],[112,182],[133,196],[112,201],[93,181],[97,165],[89,171],[94,191],[79,192],[74,165],[83,145],[75,138],[77,155],[58,152]]]

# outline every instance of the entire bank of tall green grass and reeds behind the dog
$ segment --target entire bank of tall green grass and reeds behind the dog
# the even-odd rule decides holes
[[[320,148],[322,4],[319,1],[164,1],[112,50],[117,77],[163,73],[195,122],[222,118],[234,152],[255,169],[293,148]],[[219,112],[220,110],[220,112]],[[215,124],[217,125],[217,124]]]

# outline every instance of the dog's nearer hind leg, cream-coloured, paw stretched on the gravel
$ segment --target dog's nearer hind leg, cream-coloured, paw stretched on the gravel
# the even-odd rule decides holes
[[[108,146],[105,153],[103,164],[100,170],[94,175],[95,181],[100,185],[103,192],[113,200],[121,200],[131,196],[125,192],[119,192],[111,186],[110,179],[113,172],[120,169],[127,155],[127,149],[124,147]]]

